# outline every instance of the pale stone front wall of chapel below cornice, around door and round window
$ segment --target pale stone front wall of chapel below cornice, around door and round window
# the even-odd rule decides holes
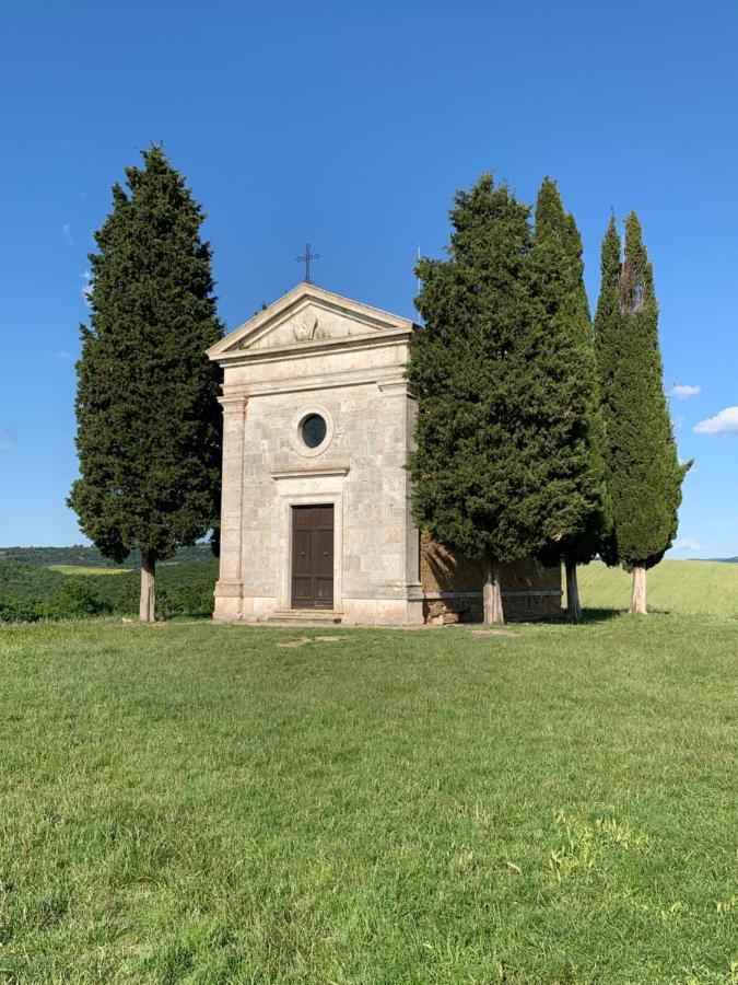
[[[224,455],[226,468],[241,466],[241,475],[224,491],[223,515],[233,512],[237,523],[221,571],[233,567],[241,599],[226,598],[222,575],[216,615],[258,621],[290,607],[290,509],[326,502],[335,510],[333,598],[343,622],[422,622],[406,468],[412,409],[403,381],[297,385],[248,397],[243,433]],[[331,436],[321,454],[306,457],[297,425],[313,412],[329,421]]]

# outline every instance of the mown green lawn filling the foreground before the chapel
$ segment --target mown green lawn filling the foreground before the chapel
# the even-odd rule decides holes
[[[738,981],[738,622],[16,625],[0,665],[2,982]]]

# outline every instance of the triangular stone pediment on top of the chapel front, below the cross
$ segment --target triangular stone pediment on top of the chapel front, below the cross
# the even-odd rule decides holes
[[[408,318],[333,294],[313,283],[301,283],[208,350],[211,359],[254,356],[270,350],[340,346],[349,339],[376,334],[409,334]]]

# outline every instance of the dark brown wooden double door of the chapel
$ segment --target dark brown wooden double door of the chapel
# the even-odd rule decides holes
[[[333,508],[292,507],[292,607],[333,607]]]

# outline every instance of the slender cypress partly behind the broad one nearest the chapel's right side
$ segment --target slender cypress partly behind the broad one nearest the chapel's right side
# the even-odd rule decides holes
[[[609,524],[604,421],[582,239],[555,182],[548,177],[538,193],[530,259],[534,317],[546,336],[541,379],[554,408],[548,425],[550,447],[543,453],[550,460],[555,442],[559,462],[551,476],[555,495],[548,515],[557,529],[541,557],[547,563],[563,559],[567,615],[579,622],[576,566],[597,555]]]

